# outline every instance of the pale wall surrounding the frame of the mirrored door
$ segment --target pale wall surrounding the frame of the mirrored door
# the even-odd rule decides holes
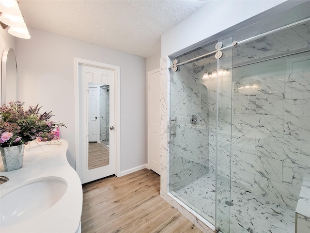
[[[55,33],[29,28],[17,39],[19,99],[67,123],[68,161],[75,167],[74,57],[120,66],[121,171],[146,164],[146,59]]]

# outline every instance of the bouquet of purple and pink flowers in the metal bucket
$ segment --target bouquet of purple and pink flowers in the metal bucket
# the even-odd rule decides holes
[[[36,138],[50,141],[55,130],[64,123],[53,122],[52,112],[40,114],[41,107],[29,106],[24,110],[20,101],[11,101],[0,107],[0,147],[25,144]]]

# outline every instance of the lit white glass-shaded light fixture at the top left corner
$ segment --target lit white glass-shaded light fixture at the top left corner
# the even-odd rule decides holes
[[[0,21],[2,23],[1,25],[10,26],[8,33],[11,35],[24,39],[30,38],[16,0],[0,0]],[[5,28],[3,27],[3,29]]]

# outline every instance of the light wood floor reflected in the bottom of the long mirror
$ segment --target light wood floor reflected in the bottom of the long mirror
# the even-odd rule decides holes
[[[88,169],[109,165],[109,147],[97,142],[88,143]]]

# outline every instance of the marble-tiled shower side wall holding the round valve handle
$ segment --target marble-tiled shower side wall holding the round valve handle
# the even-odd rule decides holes
[[[170,140],[170,190],[176,191],[208,173],[208,90],[192,64],[171,73],[170,88],[171,116],[177,117],[177,136]],[[192,115],[196,125],[190,123]]]

